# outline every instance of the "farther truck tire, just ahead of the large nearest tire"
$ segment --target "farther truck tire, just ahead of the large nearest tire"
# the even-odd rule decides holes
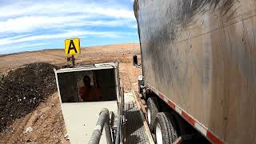
[[[149,124],[150,131],[154,132],[155,118],[157,117],[157,114],[159,112],[158,98],[155,98],[155,97],[148,98],[146,101],[146,106],[148,109],[147,122]]]

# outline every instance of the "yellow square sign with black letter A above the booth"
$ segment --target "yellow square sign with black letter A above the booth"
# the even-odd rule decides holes
[[[67,56],[81,54],[79,38],[70,38],[65,40],[65,54]]]

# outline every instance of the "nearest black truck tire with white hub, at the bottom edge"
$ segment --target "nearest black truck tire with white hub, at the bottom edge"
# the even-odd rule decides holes
[[[160,126],[161,129],[158,129],[157,126]],[[156,143],[160,140],[157,135],[157,131],[162,132],[162,143],[170,144],[173,143],[178,138],[178,130],[174,124],[173,119],[170,117],[168,113],[158,113],[155,118],[155,126],[154,126],[154,134]]]

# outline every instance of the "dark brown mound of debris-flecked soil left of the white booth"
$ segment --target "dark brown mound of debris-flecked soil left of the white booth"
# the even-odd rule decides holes
[[[0,130],[14,119],[34,110],[38,104],[57,90],[54,68],[48,63],[31,63],[10,71],[0,82]]]

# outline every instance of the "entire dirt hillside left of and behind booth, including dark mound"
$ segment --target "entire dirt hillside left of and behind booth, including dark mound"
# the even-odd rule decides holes
[[[138,89],[142,71],[132,64],[139,44],[126,43],[82,48],[76,64],[120,62],[125,91]],[[0,143],[70,143],[54,68],[69,66],[64,50],[39,50],[0,56]],[[0,76],[1,76],[0,75]]]

